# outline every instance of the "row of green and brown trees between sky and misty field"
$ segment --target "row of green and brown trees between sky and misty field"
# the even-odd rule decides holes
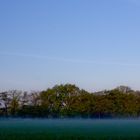
[[[10,117],[139,117],[140,92],[126,86],[89,93],[75,85],[56,85],[41,92],[0,93],[0,116]]]

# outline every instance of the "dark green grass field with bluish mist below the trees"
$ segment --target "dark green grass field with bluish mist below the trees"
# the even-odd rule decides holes
[[[140,140],[139,120],[1,119],[0,140]]]

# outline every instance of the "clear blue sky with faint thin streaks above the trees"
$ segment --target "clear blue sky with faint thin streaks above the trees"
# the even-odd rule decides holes
[[[0,0],[0,91],[65,83],[140,90],[139,0]]]

